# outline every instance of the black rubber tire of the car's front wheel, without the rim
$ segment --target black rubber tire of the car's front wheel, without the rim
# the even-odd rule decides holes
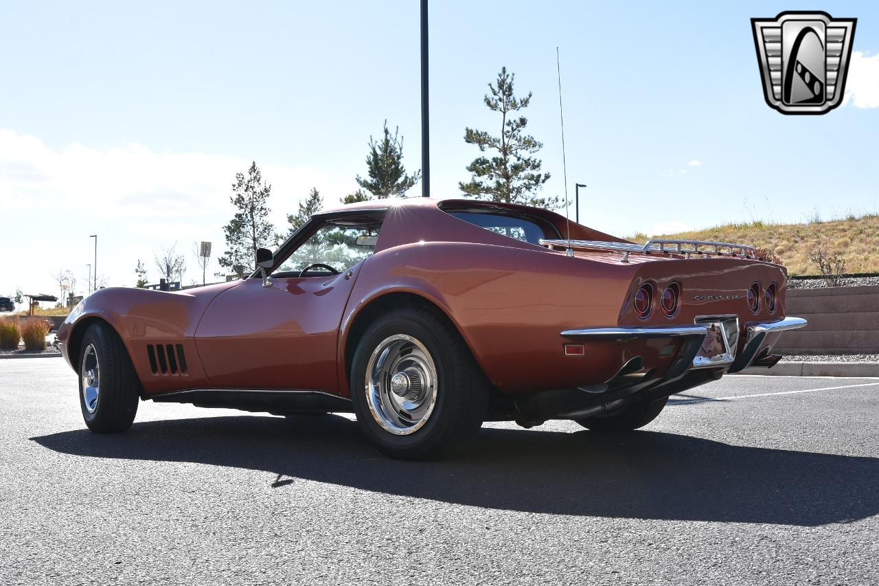
[[[86,353],[97,355],[98,395],[93,409],[86,406],[84,389],[84,370],[90,370],[94,363],[85,363]],[[93,368],[92,368],[93,370]],[[80,345],[79,361],[79,407],[83,412],[85,425],[91,431],[105,434],[125,431],[131,427],[137,414],[140,399],[141,381],[134,372],[134,364],[122,343],[119,334],[103,322],[91,324],[85,331]]]

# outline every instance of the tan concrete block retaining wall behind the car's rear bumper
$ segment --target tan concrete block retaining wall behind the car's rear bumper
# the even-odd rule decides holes
[[[879,285],[788,289],[785,313],[809,325],[782,333],[774,353],[879,353]]]

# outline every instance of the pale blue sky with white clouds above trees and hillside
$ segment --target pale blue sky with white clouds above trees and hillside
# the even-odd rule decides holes
[[[750,18],[812,8],[858,18],[853,92],[825,116],[784,116],[762,97]],[[153,255],[175,242],[185,280],[197,278],[193,242],[222,251],[229,185],[251,159],[274,186],[277,223],[309,187],[326,201],[352,191],[384,119],[405,136],[410,171],[420,166],[416,0],[5,3],[0,20],[3,246],[45,259],[5,256],[0,294],[52,292],[61,268],[84,282],[95,231],[110,284],[132,284],[137,259],[155,282]],[[498,128],[482,96],[502,65],[534,92],[545,192],[563,194],[556,45],[584,223],[628,235],[879,209],[868,2],[433,2],[435,196],[468,178],[477,151],[464,127]],[[33,216],[51,229],[35,235]]]

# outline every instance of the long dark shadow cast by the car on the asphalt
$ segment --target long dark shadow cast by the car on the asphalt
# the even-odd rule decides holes
[[[879,458],[751,448],[691,436],[482,429],[439,462],[385,458],[343,417],[221,416],[33,437],[93,458],[193,462],[491,509],[820,525],[879,513]],[[266,480],[271,482],[271,480]]]

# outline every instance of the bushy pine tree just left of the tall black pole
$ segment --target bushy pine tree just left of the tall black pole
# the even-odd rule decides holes
[[[372,136],[369,137],[367,155],[369,179],[357,176],[358,185],[373,195],[372,198],[367,197],[367,199],[403,197],[406,191],[421,179],[421,171],[416,171],[412,176],[406,174],[406,168],[403,166],[403,136],[399,136],[400,128],[396,128],[394,136],[391,136],[388,121],[384,121],[383,132],[384,137],[379,142],[375,142]],[[365,194],[359,189],[343,201],[350,203],[347,201],[349,198],[357,198],[361,195]],[[364,200],[352,199],[352,201]]]

